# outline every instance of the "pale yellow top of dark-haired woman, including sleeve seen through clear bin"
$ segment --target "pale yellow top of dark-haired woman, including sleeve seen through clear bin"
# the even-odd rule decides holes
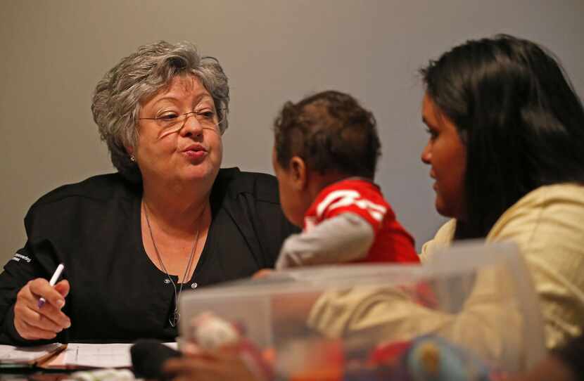
[[[422,261],[432,257],[436,247],[450,245],[454,229],[454,220],[442,226],[422,247]],[[487,241],[499,240],[517,243],[533,273],[547,347],[579,335],[584,326],[584,186],[559,184],[528,193],[504,212],[488,234]],[[504,282],[483,271],[464,313],[455,316],[414,305],[395,289],[326,292],[313,306],[308,324],[329,336],[374,332],[380,340],[440,332],[488,361],[519,370],[531,366],[526,360],[529,338],[521,336],[523,316],[511,312],[517,309],[504,291]]]

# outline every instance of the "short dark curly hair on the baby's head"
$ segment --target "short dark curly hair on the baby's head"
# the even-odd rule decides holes
[[[372,112],[338,91],[286,102],[274,122],[274,140],[282,168],[298,156],[320,174],[336,171],[373,179],[381,155]]]

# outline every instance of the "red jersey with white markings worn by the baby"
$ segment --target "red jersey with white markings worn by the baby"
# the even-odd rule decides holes
[[[324,188],[305,214],[304,230],[347,212],[369,222],[375,234],[367,256],[357,262],[419,262],[414,239],[395,219],[379,186],[367,179],[346,179]]]

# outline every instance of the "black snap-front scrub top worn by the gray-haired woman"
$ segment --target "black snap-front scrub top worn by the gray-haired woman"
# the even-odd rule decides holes
[[[71,285],[63,311],[72,325],[52,341],[175,340],[174,288],[142,245],[141,192],[120,174],[106,174],[57,188],[32,205],[27,243],[0,274],[0,342],[41,343],[15,331],[15,297],[29,280],[50,278],[59,263]],[[284,239],[298,231],[281,212],[274,176],[220,169],[210,203],[205,247],[182,292],[273,267]]]

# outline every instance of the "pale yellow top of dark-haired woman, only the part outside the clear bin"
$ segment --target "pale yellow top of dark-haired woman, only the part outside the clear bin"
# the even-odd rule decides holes
[[[438,246],[449,245],[456,222],[450,220],[421,250],[426,261]],[[512,240],[521,250],[540,299],[545,344],[556,348],[584,328],[584,186],[542,186],[507,209],[487,242]]]

